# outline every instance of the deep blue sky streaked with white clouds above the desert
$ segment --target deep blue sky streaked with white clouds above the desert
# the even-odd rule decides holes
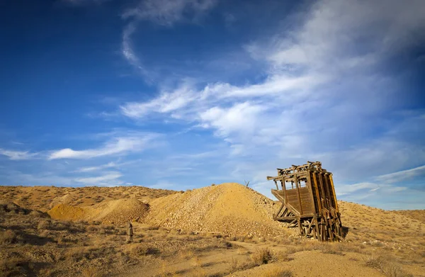
[[[1,1],[0,183],[185,190],[322,162],[425,208],[424,1]]]

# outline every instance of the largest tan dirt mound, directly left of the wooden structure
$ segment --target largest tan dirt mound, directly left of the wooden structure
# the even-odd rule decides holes
[[[239,183],[176,193],[152,200],[145,222],[186,231],[220,232],[237,236],[287,236],[292,234],[273,220],[278,205]]]

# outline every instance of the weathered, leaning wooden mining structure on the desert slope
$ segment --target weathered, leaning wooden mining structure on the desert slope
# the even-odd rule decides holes
[[[321,162],[278,169],[278,176],[267,180],[275,182],[271,193],[282,202],[274,220],[289,222],[288,227],[298,227],[301,235],[319,241],[342,239],[332,174],[322,169]]]

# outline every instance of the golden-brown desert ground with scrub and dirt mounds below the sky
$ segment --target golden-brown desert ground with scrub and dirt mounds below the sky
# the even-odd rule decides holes
[[[0,276],[425,276],[425,210],[339,201],[345,240],[317,242],[278,208],[237,183],[0,186]]]

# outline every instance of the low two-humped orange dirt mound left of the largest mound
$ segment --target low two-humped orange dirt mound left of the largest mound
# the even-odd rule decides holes
[[[140,220],[147,214],[149,205],[136,198],[111,200],[91,207],[67,204],[55,205],[47,213],[57,220],[96,220],[123,225],[128,220]]]

